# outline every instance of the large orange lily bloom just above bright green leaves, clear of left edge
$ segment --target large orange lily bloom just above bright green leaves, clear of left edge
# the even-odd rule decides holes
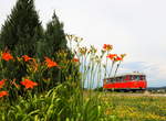
[[[23,85],[27,89],[29,88],[33,88],[34,86],[38,86],[37,82],[29,80],[29,79],[24,79],[23,81],[20,82],[21,85]]]

